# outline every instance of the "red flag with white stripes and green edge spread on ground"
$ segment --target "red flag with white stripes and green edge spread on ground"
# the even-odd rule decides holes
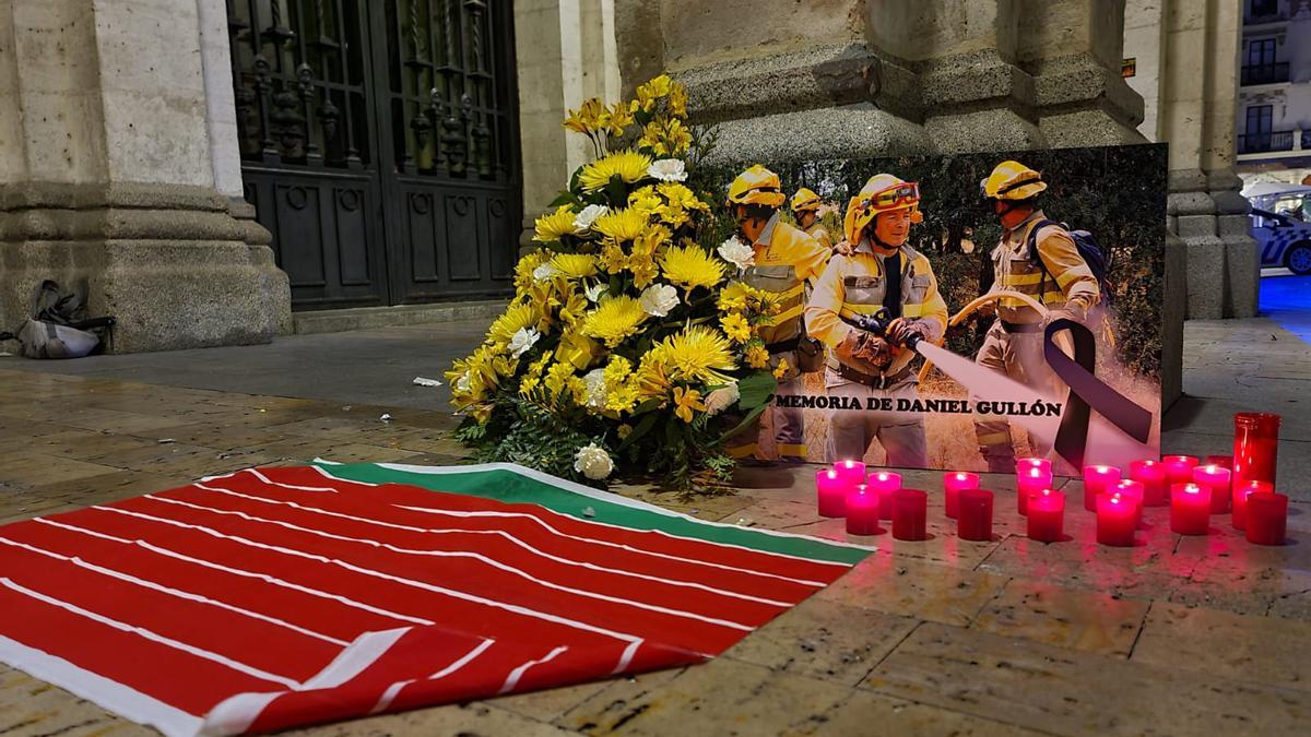
[[[0,661],[283,729],[700,662],[869,552],[511,464],[252,468],[0,527]]]

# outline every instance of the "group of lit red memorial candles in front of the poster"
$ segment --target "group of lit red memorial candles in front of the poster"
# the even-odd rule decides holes
[[[1188,455],[1137,460],[1127,479],[1112,466],[1084,467],[1083,508],[1097,515],[1097,543],[1133,546],[1135,531],[1143,527],[1143,508],[1168,505],[1173,532],[1206,535],[1211,515],[1228,513],[1248,542],[1282,546],[1289,498],[1274,492],[1278,425],[1277,414],[1236,414],[1234,455],[1207,456],[1206,463]],[[1054,490],[1051,481],[1047,459],[1027,458],[1016,464],[1016,506],[1027,517],[1028,536],[1044,543],[1067,539],[1066,496]],[[846,517],[848,534],[881,534],[880,521],[888,519],[898,540],[928,536],[928,494],[903,489],[899,473],[867,473],[864,463],[843,460],[819,471],[815,487],[819,514]],[[977,473],[944,473],[943,492],[947,517],[956,519],[961,539],[992,538],[992,492],[979,488]]]

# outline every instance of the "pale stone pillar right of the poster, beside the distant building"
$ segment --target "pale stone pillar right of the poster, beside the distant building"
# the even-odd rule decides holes
[[[1249,317],[1260,269],[1234,174],[1240,9],[1163,3],[1160,131],[1169,142],[1169,226],[1188,250],[1188,317]]]

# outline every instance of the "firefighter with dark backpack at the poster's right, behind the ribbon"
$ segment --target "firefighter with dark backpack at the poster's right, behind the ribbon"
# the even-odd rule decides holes
[[[992,249],[991,291],[1017,291],[1047,308],[1037,309],[1013,298],[996,303],[998,320],[988,328],[974,362],[1049,396],[1059,396],[1061,379],[1042,355],[1042,330],[1059,319],[1083,323],[1101,299],[1092,269],[1079,254],[1070,232],[1046,219],[1036,198],[1047,189],[1042,174],[1019,161],[1002,161],[979,182],[981,195],[1002,223],[1002,240]],[[1006,420],[975,422],[979,452],[988,471],[1015,469],[1015,447]],[[1051,451],[1030,437],[1034,455]]]

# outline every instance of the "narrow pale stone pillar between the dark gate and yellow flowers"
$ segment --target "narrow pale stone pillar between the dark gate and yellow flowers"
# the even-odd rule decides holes
[[[523,165],[523,235],[574,169],[591,160],[587,140],[561,126],[583,100],[620,98],[612,0],[514,3]]]

